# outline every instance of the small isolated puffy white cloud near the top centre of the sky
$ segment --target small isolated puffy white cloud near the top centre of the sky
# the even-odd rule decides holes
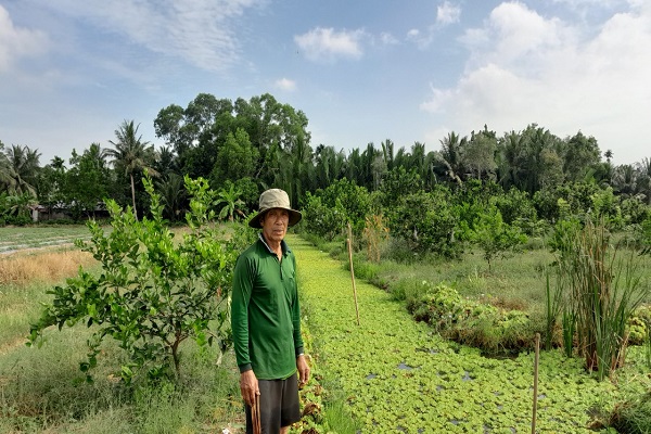
[[[337,58],[359,59],[362,55],[363,30],[335,31],[333,28],[317,27],[294,37],[294,42],[305,56],[315,62],[334,61]]]

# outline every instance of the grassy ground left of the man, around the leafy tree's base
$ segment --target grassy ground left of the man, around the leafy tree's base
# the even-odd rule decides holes
[[[124,352],[102,346],[92,384],[79,362],[92,329],[84,324],[46,332],[41,348],[24,345],[46,291],[95,260],[76,250],[0,257],[0,433],[241,432],[243,414],[232,352],[216,365],[218,348],[187,343],[182,379],[127,387],[116,370]]]

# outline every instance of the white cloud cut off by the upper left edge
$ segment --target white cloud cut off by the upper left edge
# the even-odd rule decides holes
[[[9,71],[18,58],[40,54],[47,43],[42,31],[14,27],[9,12],[0,4],[0,73]]]

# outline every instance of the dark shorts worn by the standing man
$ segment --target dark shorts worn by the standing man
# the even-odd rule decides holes
[[[298,379],[258,380],[260,390],[260,425],[263,434],[278,434],[282,426],[301,420]],[[253,434],[251,407],[246,407],[246,434]]]

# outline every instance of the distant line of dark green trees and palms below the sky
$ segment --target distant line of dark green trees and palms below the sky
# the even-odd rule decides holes
[[[184,176],[203,177],[220,192],[225,218],[253,210],[266,188],[286,190],[292,203],[302,206],[307,192],[342,179],[368,192],[398,184],[404,189],[392,193],[397,195],[418,193],[413,189],[462,192],[469,181],[480,181],[524,194],[535,204],[537,219],[558,217],[564,206],[559,200],[585,213],[595,207],[586,197],[596,192],[610,191],[613,206],[628,201],[628,208],[646,209],[651,203],[650,158],[614,166],[613,153],[602,152],[593,137],[578,131],[560,138],[536,124],[501,136],[486,126],[467,136],[450,132],[431,152],[420,142],[396,149],[388,139],[346,152],[326,144],[312,148],[306,114],[271,94],[233,102],[200,93],[187,107],[171,104],[158,112],[154,127],[164,146],[143,141],[138,127],[125,120],[107,148],[92,143],[73,151],[67,161],[56,156],[44,166],[38,150],[0,142],[1,221],[29,221],[37,204],[63,208],[80,220],[94,215],[106,197],[135,206],[141,215],[149,201],[141,179],[145,169],[170,220],[188,205]],[[391,197],[382,202],[392,206]]]

